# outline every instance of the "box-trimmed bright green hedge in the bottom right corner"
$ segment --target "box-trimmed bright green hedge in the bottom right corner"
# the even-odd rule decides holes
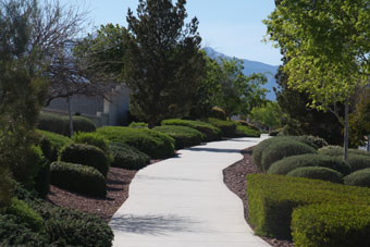
[[[357,205],[310,205],[292,214],[295,246],[369,246],[370,208]]]

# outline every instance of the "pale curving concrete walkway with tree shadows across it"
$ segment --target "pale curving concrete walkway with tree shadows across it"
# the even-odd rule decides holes
[[[222,171],[262,138],[209,143],[140,170],[113,215],[114,247],[263,247]]]

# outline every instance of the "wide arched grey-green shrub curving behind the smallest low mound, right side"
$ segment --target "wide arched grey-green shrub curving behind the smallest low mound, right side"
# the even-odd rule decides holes
[[[329,168],[342,173],[343,175],[347,175],[350,173],[349,165],[341,158],[316,153],[291,156],[285,159],[279,160],[271,164],[267,173],[286,175],[295,169],[306,166]]]

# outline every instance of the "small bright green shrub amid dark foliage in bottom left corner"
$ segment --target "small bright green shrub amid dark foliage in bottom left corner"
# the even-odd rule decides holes
[[[25,223],[34,232],[42,227],[42,218],[22,200],[12,198],[12,203],[7,209],[7,213],[15,215],[20,222]]]

